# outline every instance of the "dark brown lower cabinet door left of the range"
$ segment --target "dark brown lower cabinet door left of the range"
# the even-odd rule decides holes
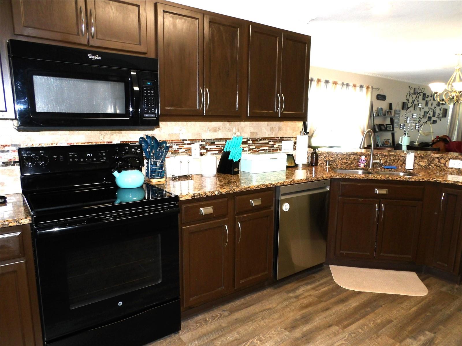
[[[2,346],[36,345],[25,260],[0,266]]]

